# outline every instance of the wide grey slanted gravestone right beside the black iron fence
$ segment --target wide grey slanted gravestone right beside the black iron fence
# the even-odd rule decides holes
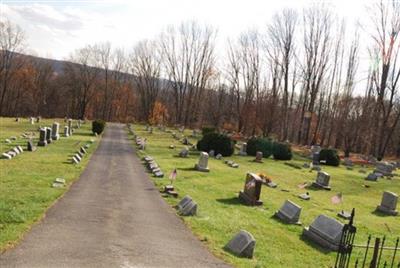
[[[325,215],[319,215],[303,235],[325,249],[337,251],[342,236],[343,224]]]

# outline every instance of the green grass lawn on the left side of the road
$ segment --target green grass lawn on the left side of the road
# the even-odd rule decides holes
[[[34,132],[36,145],[38,127],[51,126],[54,121],[60,123],[60,139],[47,147],[38,147],[35,152],[28,152],[27,139],[21,134]],[[41,219],[79,177],[96,149],[97,142],[87,150],[80,164],[71,164],[71,156],[87,141],[96,138],[91,135],[90,123],[83,124],[71,137],[65,138],[62,135],[64,125],[64,119],[42,119],[40,123],[31,125],[27,118],[21,118],[20,122],[15,122],[15,118],[0,118],[0,153],[17,145],[24,149],[11,160],[0,159],[0,252],[15,245],[32,224]],[[5,140],[12,136],[17,140],[7,144]],[[66,187],[51,187],[58,177],[66,180]]]

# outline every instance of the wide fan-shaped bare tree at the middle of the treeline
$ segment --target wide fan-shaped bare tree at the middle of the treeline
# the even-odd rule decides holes
[[[169,27],[161,35],[166,75],[171,81],[175,122],[185,126],[198,120],[208,80],[214,74],[214,39],[216,32],[196,22]]]

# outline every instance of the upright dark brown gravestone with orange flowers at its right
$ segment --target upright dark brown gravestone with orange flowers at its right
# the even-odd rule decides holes
[[[263,180],[257,174],[247,173],[244,189],[239,192],[239,199],[249,206],[262,205],[263,202],[260,200],[262,183]]]

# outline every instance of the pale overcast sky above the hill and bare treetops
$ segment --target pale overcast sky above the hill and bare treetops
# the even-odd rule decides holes
[[[27,35],[28,52],[65,59],[76,48],[110,41],[130,49],[135,42],[157,36],[166,26],[197,20],[218,29],[219,50],[228,37],[249,28],[263,29],[285,8],[301,11],[306,0],[0,0],[1,18],[17,23]],[[365,17],[365,0],[324,1],[353,24]],[[221,51],[220,51],[221,52]]]

